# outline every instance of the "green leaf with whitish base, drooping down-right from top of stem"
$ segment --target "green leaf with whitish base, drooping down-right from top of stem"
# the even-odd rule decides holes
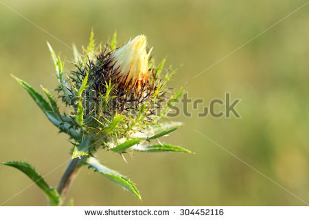
[[[85,162],[89,167],[93,168],[93,170],[101,173],[106,176],[108,179],[115,181],[117,184],[120,184],[127,190],[133,193],[137,198],[141,199],[141,195],[139,194],[139,190],[137,190],[133,181],[130,181],[127,177],[117,173],[115,170],[111,170],[110,168],[101,164],[98,159],[94,157],[89,157],[87,162]]]

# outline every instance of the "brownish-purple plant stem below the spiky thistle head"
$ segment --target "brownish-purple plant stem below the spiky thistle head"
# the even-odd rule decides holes
[[[65,173],[63,173],[57,186],[57,191],[59,195],[62,196],[63,200],[65,199],[65,195],[69,191],[69,187],[71,186],[71,183],[73,179],[76,177],[76,174],[78,173],[78,170],[80,170],[81,166],[82,166],[82,159],[80,158],[71,159],[71,161],[67,165]]]

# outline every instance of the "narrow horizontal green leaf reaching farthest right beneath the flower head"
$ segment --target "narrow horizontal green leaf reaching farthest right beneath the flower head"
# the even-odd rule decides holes
[[[170,144],[154,144],[154,145],[137,145],[130,148],[132,151],[142,151],[142,152],[163,152],[163,151],[174,151],[183,153],[192,153],[191,151],[182,148],[180,146],[174,146]]]

